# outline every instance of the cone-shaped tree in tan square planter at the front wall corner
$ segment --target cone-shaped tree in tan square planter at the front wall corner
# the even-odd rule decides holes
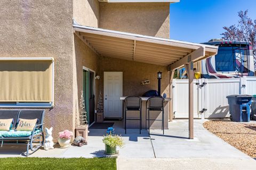
[[[88,122],[87,112],[85,110],[83,90],[81,91],[81,98],[79,102],[79,121],[76,125],[76,137],[81,136],[88,141]]]

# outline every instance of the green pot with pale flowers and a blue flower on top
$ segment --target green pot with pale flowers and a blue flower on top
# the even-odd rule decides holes
[[[121,135],[113,135],[113,128],[112,130],[108,131],[109,134],[106,136],[103,136],[103,143],[105,143],[105,154],[107,155],[114,155],[116,154],[116,147],[123,147],[124,146],[124,141],[121,137]]]

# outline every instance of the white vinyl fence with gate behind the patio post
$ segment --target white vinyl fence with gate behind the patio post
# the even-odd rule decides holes
[[[256,95],[256,77],[194,80],[194,117],[228,117],[228,95]],[[188,80],[173,80],[175,118],[188,117]]]

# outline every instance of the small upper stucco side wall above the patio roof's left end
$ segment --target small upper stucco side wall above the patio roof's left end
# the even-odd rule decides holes
[[[78,24],[98,28],[98,0],[74,0],[73,11],[73,18]]]

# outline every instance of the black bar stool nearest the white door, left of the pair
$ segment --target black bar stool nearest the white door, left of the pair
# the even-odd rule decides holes
[[[125,134],[126,134],[126,120],[135,120],[140,121],[140,134],[141,134],[141,104],[142,99],[137,96],[129,96],[124,99],[124,128],[125,128]],[[126,112],[127,111],[140,111],[140,118],[126,118]]]

